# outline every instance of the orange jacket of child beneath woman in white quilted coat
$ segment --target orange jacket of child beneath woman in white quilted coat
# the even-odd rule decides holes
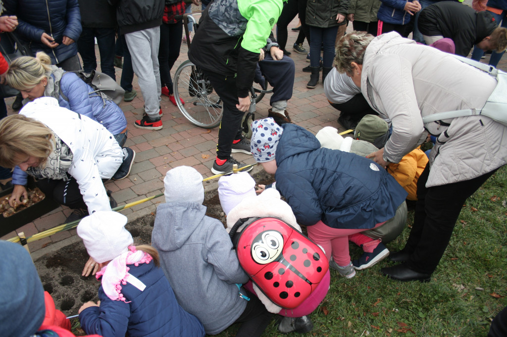
[[[428,157],[419,146],[412,152],[407,153],[399,163],[390,163],[387,166],[387,172],[409,194],[407,196],[408,200],[417,200],[417,180],[427,163]]]

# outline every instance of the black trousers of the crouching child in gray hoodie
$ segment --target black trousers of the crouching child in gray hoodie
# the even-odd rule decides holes
[[[234,323],[242,323],[236,333],[236,337],[258,337],[271,322],[273,314],[266,310],[264,304],[259,300],[256,294],[251,293],[245,288],[241,292],[250,298],[243,313]]]

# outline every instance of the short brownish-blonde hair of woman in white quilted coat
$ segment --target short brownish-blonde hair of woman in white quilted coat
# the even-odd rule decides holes
[[[364,31],[353,31],[343,36],[336,45],[336,56],[333,65],[340,73],[352,75],[350,63],[363,64],[366,47],[374,36]]]

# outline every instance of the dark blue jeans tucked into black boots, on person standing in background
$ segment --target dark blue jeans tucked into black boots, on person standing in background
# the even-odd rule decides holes
[[[320,63],[320,46],[324,45],[322,63],[325,68],[333,66],[335,58],[335,41],[338,26],[319,28],[310,26],[310,67],[318,67]]]

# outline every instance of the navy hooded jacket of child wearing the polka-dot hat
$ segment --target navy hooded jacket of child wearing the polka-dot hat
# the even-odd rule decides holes
[[[310,132],[285,124],[276,149],[276,189],[301,225],[373,228],[394,217],[407,192],[365,157],[320,148]]]

